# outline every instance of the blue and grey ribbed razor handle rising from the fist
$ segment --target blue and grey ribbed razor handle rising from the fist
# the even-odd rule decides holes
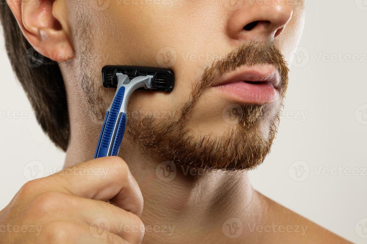
[[[94,158],[117,156],[127,123],[127,102],[131,93],[141,87],[152,89],[152,76],[139,76],[130,81],[125,74],[116,74],[117,90],[102,125]]]

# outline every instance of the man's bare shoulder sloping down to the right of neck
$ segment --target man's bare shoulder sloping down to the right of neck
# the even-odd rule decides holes
[[[247,226],[256,236],[252,243],[350,243],[269,198],[259,197],[265,220]]]

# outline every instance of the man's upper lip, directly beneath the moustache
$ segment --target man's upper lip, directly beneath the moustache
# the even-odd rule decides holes
[[[268,83],[274,88],[279,88],[281,79],[278,69],[272,64],[243,65],[221,75],[211,83],[211,86],[220,86],[240,81],[258,81]]]

